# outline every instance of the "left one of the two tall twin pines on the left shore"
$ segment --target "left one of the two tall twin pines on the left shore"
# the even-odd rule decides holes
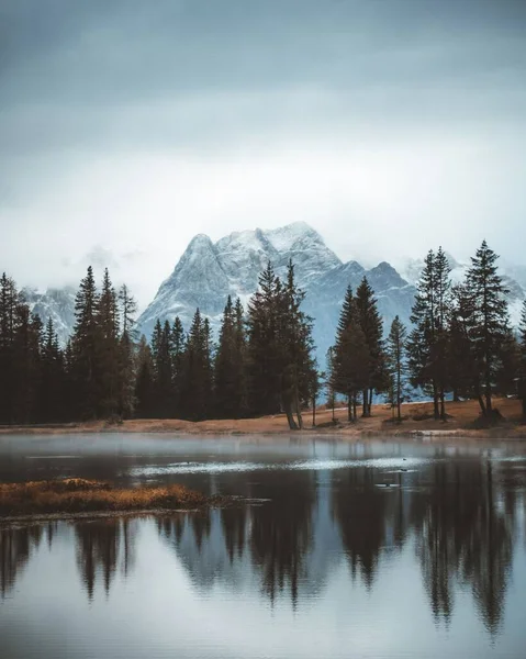
[[[90,266],[76,297],[76,324],[71,338],[72,399],[75,416],[78,418],[97,418],[99,415],[101,373],[98,312],[99,294]]]

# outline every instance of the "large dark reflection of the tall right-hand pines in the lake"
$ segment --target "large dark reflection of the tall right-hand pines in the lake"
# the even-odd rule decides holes
[[[433,487],[414,509],[424,583],[436,617],[448,619],[455,579],[471,585],[481,616],[494,634],[501,624],[513,550],[513,499],[497,506],[491,462],[438,462]]]

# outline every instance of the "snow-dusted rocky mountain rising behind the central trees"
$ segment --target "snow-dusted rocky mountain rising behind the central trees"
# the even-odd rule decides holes
[[[138,328],[149,337],[157,319],[171,323],[176,315],[188,328],[199,306],[216,331],[228,295],[238,297],[246,305],[268,261],[283,276],[289,259],[295,264],[298,283],[306,293],[304,310],[315,319],[314,342],[321,365],[334,343],[345,290],[348,284],[356,289],[363,276],[374,289],[385,327],[396,314],[409,323],[415,289],[392,266],[381,263],[367,270],[357,261],[344,264],[316,231],[295,222],[271,231],[233,233],[216,243],[202,234],[195,236],[141,315]]]

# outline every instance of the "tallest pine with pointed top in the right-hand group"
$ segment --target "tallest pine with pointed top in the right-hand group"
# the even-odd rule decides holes
[[[484,416],[493,415],[492,389],[500,348],[507,335],[507,290],[499,276],[499,256],[485,241],[471,257],[466,288],[471,297],[470,340],[478,368],[478,398]]]

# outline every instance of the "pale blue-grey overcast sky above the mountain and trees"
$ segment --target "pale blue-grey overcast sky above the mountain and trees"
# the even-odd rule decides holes
[[[0,0],[0,270],[149,302],[197,233],[525,264],[526,2]]]

